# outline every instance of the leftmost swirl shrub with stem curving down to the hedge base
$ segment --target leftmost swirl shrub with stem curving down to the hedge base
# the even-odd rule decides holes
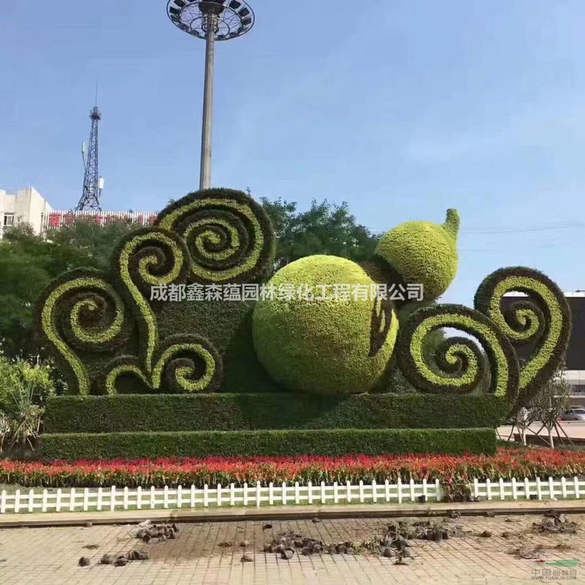
[[[133,322],[106,275],[90,269],[63,274],[44,290],[35,321],[42,342],[53,347],[71,388],[89,394],[91,380],[81,352],[111,352],[122,346]]]

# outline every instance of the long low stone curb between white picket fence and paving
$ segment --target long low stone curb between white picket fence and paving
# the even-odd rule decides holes
[[[132,510],[115,512],[44,512],[33,514],[5,514],[0,516],[2,528],[42,528],[47,526],[85,526],[138,524],[144,520],[172,522],[235,522],[256,520],[286,520],[328,518],[391,518],[449,516],[452,512],[467,516],[538,514],[555,510],[565,514],[585,514],[583,501],[525,501],[447,504],[349,504],[324,506],[283,506],[279,508],[211,508],[174,510]]]

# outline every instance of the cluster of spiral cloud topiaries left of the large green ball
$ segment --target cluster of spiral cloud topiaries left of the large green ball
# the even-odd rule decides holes
[[[51,283],[37,305],[37,329],[80,394],[116,394],[121,377],[141,392],[214,391],[222,356],[202,335],[160,339],[151,287],[253,282],[273,260],[270,221],[250,197],[192,193],[165,209],[156,226],[122,240],[111,276],[77,270]]]

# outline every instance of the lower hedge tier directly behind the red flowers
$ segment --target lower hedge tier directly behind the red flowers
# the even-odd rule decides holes
[[[483,429],[312,429],[54,433],[40,437],[43,460],[144,459],[238,455],[493,454],[495,431]]]

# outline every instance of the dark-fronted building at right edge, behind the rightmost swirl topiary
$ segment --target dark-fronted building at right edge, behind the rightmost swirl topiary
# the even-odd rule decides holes
[[[521,292],[512,292],[504,296],[504,308],[517,299],[525,297]],[[585,292],[565,292],[572,314],[573,328],[565,358],[566,381],[572,387],[571,397],[585,399]],[[522,355],[522,347],[518,348]],[[581,400],[579,402],[582,402]]]

